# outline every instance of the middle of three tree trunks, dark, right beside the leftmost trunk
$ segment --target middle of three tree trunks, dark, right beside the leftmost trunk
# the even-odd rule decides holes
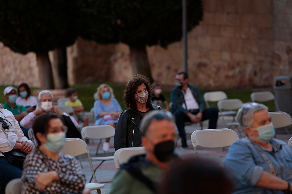
[[[68,88],[66,47],[50,51],[55,89]]]

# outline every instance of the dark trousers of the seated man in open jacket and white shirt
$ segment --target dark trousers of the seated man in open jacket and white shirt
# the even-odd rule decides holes
[[[218,120],[218,109],[215,107],[207,108],[202,113],[202,121],[209,119],[208,129],[216,129]],[[175,111],[175,124],[178,128],[180,138],[185,139],[185,122],[191,122],[190,118],[183,111]]]

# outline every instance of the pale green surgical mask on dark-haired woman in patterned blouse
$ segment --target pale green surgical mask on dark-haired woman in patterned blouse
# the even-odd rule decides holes
[[[48,142],[44,146],[51,152],[58,153],[65,144],[65,133],[48,134],[47,140]]]

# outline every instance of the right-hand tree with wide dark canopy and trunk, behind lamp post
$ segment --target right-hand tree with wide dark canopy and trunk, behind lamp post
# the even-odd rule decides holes
[[[81,36],[101,44],[122,42],[130,46],[134,73],[151,80],[146,45],[161,45],[182,38],[182,1],[88,0],[83,10],[88,30]],[[187,29],[202,19],[201,0],[187,1]]]

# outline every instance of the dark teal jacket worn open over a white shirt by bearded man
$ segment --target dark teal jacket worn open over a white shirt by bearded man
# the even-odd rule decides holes
[[[191,89],[191,92],[196,99],[197,103],[199,104],[199,109],[204,110],[205,102],[201,95],[201,92],[197,86],[188,84],[188,87]],[[187,113],[187,110],[183,108],[183,104],[185,103],[185,97],[183,95],[182,89],[179,87],[175,87],[170,92],[170,98],[173,105],[171,106],[170,112],[174,113],[176,110],[183,111]]]

